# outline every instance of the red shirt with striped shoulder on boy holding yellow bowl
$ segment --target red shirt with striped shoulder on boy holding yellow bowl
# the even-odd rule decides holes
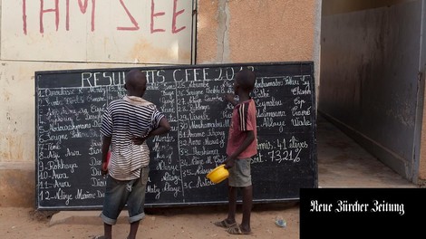
[[[255,100],[238,103],[232,111],[228,134],[227,154],[230,156],[246,139],[246,132],[253,131],[255,140],[237,158],[250,158],[257,154],[257,122]]]

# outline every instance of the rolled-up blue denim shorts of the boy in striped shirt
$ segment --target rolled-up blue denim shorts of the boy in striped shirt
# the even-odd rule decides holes
[[[142,167],[140,178],[121,181],[113,177],[107,178],[105,197],[103,198],[102,221],[115,225],[121,210],[127,205],[129,223],[140,221],[145,217],[145,190],[148,183],[150,167]]]

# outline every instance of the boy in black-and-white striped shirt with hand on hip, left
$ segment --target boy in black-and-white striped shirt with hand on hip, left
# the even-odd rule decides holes
[[[111,238],[121,209],[127,204],[131,230],[128,239],[136,238],[140,220],[145,216],[145,189],[150,172],[150,149],[145,139],[169,132],[169,121],[157,107],[143,100],[146,75],[139,70],[126,74],[127,95],[112,100],[102,118],[102,175],[107,185],[101,218],[104,234]],[[108,151],[111,158],[107,162]]]

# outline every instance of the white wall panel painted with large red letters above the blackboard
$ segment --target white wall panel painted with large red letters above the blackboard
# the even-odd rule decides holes
[[[190,63],[192,0],[2,0],[2,60]]]

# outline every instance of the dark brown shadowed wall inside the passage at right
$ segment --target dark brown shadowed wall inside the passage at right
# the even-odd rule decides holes
[[[421,176],[424,2],[323,1],[318,110],[412,182]]]

